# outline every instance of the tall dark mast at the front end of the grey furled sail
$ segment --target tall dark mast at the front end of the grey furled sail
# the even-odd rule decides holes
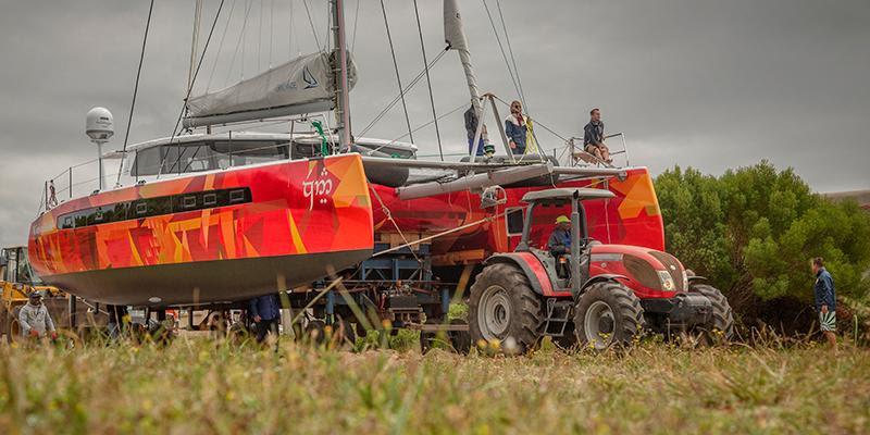
[[[333,11],[333,46],[335,47],[335,67],[337,80],[335,86],[335,121],[339,149],[350,149],[350,98],[348,96],[347,44],[345,40],[345,2],[330,0]]]

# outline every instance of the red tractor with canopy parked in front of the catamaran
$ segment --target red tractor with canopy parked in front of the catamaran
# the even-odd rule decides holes
[[[584,200],[609,190],[556,188],[523,196],[529,203],[520,245],[484,262],[471,287],[474,341],[498,340],[524,351],[544,336],[598,349],[630,344],[645,331],[729,339],[734,319],[718,289],[691,276],[673,256],[589,239]],[[570,253],[530,245],[535,210],[571,204]]]

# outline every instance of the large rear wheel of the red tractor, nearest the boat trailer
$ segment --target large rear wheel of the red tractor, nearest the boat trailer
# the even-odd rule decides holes
[[[487,265],[471,286],[472,343],[498,343],[507,352],[523,353],[537,343],[543,319],[540,299],[513,264]]]

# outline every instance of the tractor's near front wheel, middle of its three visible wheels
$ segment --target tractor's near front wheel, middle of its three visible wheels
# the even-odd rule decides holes
[[[644,326],[641,299],[617,282],[592,284],[574,307],[574,333],[584,347],[630,345]]]

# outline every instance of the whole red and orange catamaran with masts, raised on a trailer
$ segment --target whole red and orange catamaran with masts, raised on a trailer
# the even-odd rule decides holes
[[[71,198],[60,203],[47,187],[46,208],[29,234],[30,261],[42,279],[94,301],[164,309],[233,304],[295,287],[303,289],[291,294],[301,300],[295,306],[304,306],[311,288],[338,276],[365,297],[361,304],[393,310],[394,319],[443,319],[464,286],[452,278],[519,243],[523,195],[557,185],[616,194],[589,201],[592,237],[663,249],[645,167],[613,167],[589,156],[577,161],[583,151],[570,144],[570,165],[540,151],[513,156],[504,129],[504,154],[472,150],[461,162],[418,159],[409,142],[353,137],[348,101],[356,66],[345,41],[344,1],[330,3],[331,52],[187,98],[184,134],[112,154],[123,160],[115,187],[72,197],[70,182]],[[456,0],[444,1],[444,20],[473,110],[500,123],[496,99],[478,90]],[[312,113],[328,111],[334,125],[325,125],[327,117],[310,122]],[[299,123],[312,129],[232,128],[282,116],[296,116],[291,129]],[[229,129],[216,132],[220,126]],[[544,245],[549,227],[533,226],[532,238]],[[384,245],[396,239],[400,246]],[[405,274],[408,268],[414,272]],[[325,303],[321,313],[339,310],[332,298]]]

